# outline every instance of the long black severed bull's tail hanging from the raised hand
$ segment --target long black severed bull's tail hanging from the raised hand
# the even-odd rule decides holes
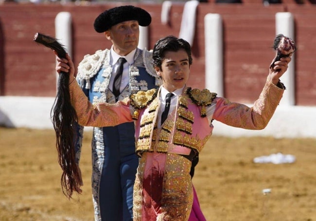
[[[58,57],[66,58],[66,50],[56,38],[36,33],[34,41],[55,50]],[[73,148],[74,131],[72,125],[78,121],[78,118],[70,102],[69,74],[63,71],[60,72],[58,78],[57,95],[51,115],[56,134],[58,163],[63,170],[60,180],[61,187],[63,193],[68,198],[71,198],[73,190],[78,192],[79,187],[82,185]]]

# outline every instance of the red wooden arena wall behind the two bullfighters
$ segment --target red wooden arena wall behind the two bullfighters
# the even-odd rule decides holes
[[[287,0],[290,1],[290,0]],[[160,21],[161,4],[130,3],[152,16],[149,48],[166,35],[178,36],[183,3],[173,4],[168,24]],[[75,65],[85,54],[110,47],[93,22],[104,10],[122,3],[90,5],[32,4],[5,2],[0,5],[0,95],[53,97],[56,93],[55,58],[50,49],[33,41],[36,32],[54,36],[54,19],[59,12],[72,17],[72,54]],[[190,86],[205,85],[204,17],[217,13],[223,19],[224,96],[236,102],[253,102],[261,92],[275,51],[275,14],[291,12],[295,19],[296,105],[316,105],[316,5],[284,2],[263,6],[247,0],[242,4],[200,3],[192,45]],[[214,91],[216,92],[216,91]]]

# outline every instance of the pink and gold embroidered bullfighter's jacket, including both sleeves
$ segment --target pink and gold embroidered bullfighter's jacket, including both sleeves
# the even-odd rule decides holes
[[[160,105],[159,91],[139,91],[130,98],[115,104],[92,105],[80,87],[70,84],[71,103],[79,124],[83,126],[114,126],[135,120],[136,152],[178,153],[188,155],[191,150],[200,152],[211,136],[213,126],[206,118],[218,120],[233,127],[251,130],[265,128],[273,116],[283,94],[281,84],[266,82],[253,107],[216,97],[204,89],[187,87],[177,98],[176,109],[157,127]],[[211,111],[207,111],[211,109]]]

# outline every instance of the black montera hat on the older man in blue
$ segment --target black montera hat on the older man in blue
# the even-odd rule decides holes
[[[132,5],[124,5],[101,13],[94,21],[94,30],[103,33],[113,25],[123,21],[137,20],[140,26],[148,26],[151,22],[151,16],[145,10]]]

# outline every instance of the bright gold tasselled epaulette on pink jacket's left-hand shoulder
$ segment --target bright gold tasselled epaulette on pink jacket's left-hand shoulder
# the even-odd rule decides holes
[[[130,104],[135,108],[133,119],[137,120],[141,109],[147,107],[157,97],[158,90],[151,89],[147,91],[138,91],[130,96]]]

